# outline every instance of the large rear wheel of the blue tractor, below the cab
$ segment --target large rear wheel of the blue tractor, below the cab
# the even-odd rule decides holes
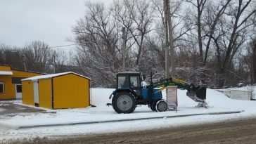
[[[131,93],[117,93],[112,99],[113,109],[117,113],[132,113],[136,108],[135,98]]]

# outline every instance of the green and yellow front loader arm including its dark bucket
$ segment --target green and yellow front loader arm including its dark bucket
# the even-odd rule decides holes
[[[153,88],[161,88],[160,91],[166,89],[167,86],[177,86],[178,89],[186,89],[186,96],[192,100],[199,103],[205,103],[206,87],[195,86],[181,79],[170,77],[169,79],[163,79],[161,81],[155,82],[151,86],[153,86]]]

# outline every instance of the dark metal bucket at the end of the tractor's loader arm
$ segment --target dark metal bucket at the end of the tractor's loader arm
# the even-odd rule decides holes
[[[193,88],[191,91],[186,92],[186,96],[196,102],[205,103],[206,87]]]

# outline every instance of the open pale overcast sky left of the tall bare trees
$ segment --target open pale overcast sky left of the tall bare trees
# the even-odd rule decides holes
[[[85,13],[84,1],[1,0],[0,44],[24,46],[34,40],[49,46],[70,44],[66,39],[73,37],[72,26]]]

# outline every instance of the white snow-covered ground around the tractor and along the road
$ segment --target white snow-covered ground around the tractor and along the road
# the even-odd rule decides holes
[[[48,113],[20,113],[15,117],[6,117],[0,119],[0,142],[15,138],[35,138],[66,136],[91,133],[112,133],[123,131],[138,131],[146,129],[160,129],[170,126],[181,126],[188,124],[202,124],[210,122],[219,122],[230,119],[245,117],[256,117],[256,101],[250,100],[232,100],[224,96],[223,93],[207,89],[207,104],[210,106],[205,109],[195,107],[198,103],[186,96],[186,91],[178,91],[178,111],[152,112],[146,105],[136,107],[132,114],[117,114],[113,107],[106,106],[111,101],[108,99],[113,89],[92,89],[91,103],[96,107],[87,107],[82,109],[68,110],[46,110]],[[162,92],[165,98],[165,91]],[[15,101],[20,105],[21,101]],[[205,114],[209,112],[231,112],[241,111],[238,114],[220,114],[220,115],[198,115],[192,117],[168,116],[182,114]],[[84,124],[75,126],[51,126],[30,129],[17,129],[18,126],[31,126],[39,124],[66,124],[74,122],[94,122],[118,119],[132,119],[145,117],[162,117],[162,119],[145,119],[126,122],[109,122],[102,124]]]

